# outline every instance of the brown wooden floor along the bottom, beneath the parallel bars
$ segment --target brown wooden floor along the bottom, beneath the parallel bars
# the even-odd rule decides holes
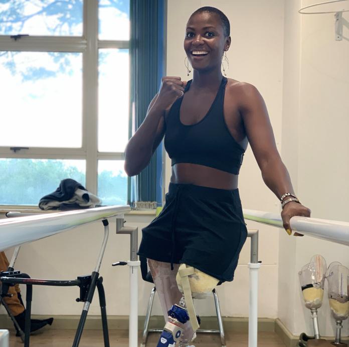
[[[68,347],[74,340],[75,330],[43,329],[30,337],[31,347]],[[155,347],[158,341],[158,334],[151,333],[148,337],[147,347]],[[111,347],[128,347],[127,330],[110,330]],[[140,341],[140,334],[139,339]],[[139,342],[140,343],[140,342]],[[198,334],[195,339],[195,347],[221,347],[220,338],[217,334]],[[227,333],[227,347],[247,347],[247,334]],[[80,341],[80,347],[103,347],[103,336],[101,330],[85,330]],[[10,331],[10,347],[23,347],[20,337]],[[258,347],[285,347],[280,337],[274,332],[261,332],[258,334]]]

